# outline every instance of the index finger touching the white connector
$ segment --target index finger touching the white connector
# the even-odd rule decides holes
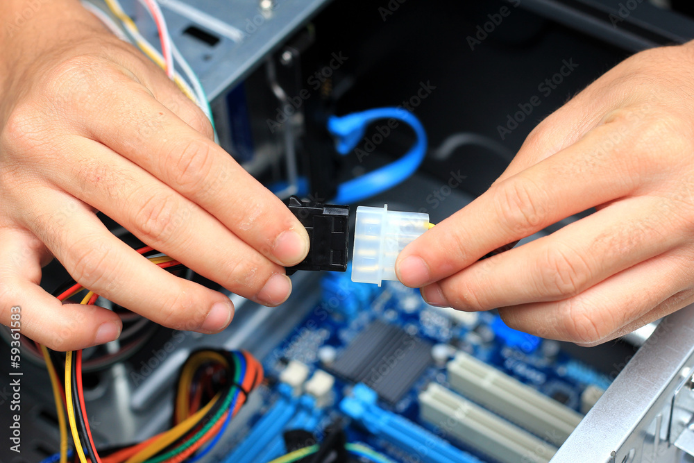
[[[428,285],[500,246],[632,192],[638,176],[616,178],[616,161],[609,156],[611,146],[605,145],[616,126],[623,124],[616,121],[594,128],[579,142],[495,183],[428,230],[398,256],[400,281],[409,287]],[[589,173],[589,182],[582,173]]]

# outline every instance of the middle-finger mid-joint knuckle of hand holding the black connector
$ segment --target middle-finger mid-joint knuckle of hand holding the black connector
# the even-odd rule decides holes
[[[135,212],[135,228],[144,239],[167,242],[179,228],[179,210],[180,205],[174,195],[150,194]]]

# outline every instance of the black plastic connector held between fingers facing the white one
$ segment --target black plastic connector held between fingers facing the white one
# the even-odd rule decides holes
[[[296,196],[287,200],[287,207],[305,226],[311,242],[307,257],[294,267],[287,267],[287,275],[297,270],[346,271],[349,207],[301,201]]]

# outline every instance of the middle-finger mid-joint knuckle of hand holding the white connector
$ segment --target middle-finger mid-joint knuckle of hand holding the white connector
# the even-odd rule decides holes
[[[550,297],[578,294],[590,280],[590,269],[584,258],[561,244],[546,248],[538,268],[539,290]]]

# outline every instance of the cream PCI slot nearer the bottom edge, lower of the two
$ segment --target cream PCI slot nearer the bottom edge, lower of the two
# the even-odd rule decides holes
[[[505,419],[430,383],[419,394],[421,418],[502,463],[548,463],[557,448]]]

